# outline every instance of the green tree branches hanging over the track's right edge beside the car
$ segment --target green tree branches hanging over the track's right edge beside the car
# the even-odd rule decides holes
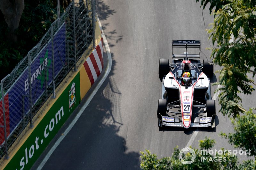
[[[210,13],[215,8],[214,23],[209,30],[214,45],[211,57],[222,67],[217,83],[221,85],[220,111],[236,117],[246,111],[239,93],[251,94],[255,90],[247,73],[253,73],[253,78],[256,73],[256,1],[202,0],[201,6],[204,8],[208,3]]]

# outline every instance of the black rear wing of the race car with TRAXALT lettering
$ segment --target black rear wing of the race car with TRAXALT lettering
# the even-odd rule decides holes
[[[173,54],[173,48],[186,48],[185,54]],[[187,54],[187,48],[199,48],[199,54]],[[199,58],[201,53],[200,40],[172,40],[172,58]]]

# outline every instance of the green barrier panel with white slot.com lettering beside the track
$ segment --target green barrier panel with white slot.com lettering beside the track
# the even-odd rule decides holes
[[[80,102],[78,73],[5,169],[30,169]]]

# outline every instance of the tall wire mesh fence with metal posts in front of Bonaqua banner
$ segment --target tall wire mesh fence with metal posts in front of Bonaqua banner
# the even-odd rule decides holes
[[[72,1],[40,42],[1,80],[0,164],[60,92],[58,87],[65,84],[67,75],[95,47],[94,1]]]

